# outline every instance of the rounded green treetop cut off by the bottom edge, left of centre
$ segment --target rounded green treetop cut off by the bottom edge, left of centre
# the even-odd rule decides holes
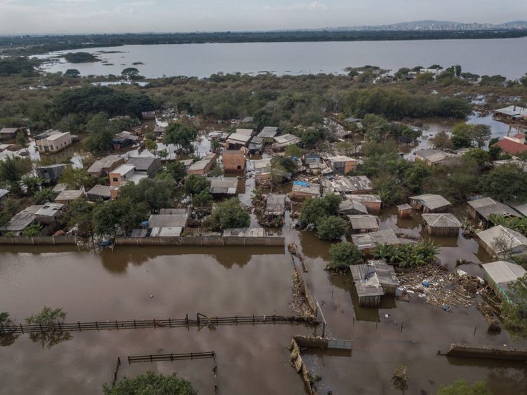
[[[123,378],[114,387],[103,385],[104,395],[197,395],[192,384],[176,373],[163,375],[147,371],[135,378]]]

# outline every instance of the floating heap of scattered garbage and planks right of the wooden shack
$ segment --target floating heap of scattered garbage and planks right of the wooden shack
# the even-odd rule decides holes
[[[474,280],[470,276],[464,279],[466,276],[450,273],[442,266],[428,265],[396,272],[400,282],[396,296],[400,300],[410,301],[418,297],[449,311],[453,306],[470,306],[477,293],[477,285],[473,287]]]

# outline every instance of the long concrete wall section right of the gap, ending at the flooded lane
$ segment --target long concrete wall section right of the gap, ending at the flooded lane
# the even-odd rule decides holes
[[[223,236],[181,236],[181,237],[117,237],[115,245],[180,245],[180,246],[282,246],[284,238],[266,237],[223,237]]]

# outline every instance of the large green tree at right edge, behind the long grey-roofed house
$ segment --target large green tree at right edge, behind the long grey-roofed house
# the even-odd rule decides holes
[[[479,178],[479,189],[498,201],[525,201],[527,177],[517,164],[504,164],[493,168]]]

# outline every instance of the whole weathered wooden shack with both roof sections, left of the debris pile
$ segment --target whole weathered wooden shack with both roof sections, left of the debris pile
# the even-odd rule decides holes
[[[382,260],[350,265],[360,307],[378,307],[381,296],[395,295],[399,280],[393,266]]]

